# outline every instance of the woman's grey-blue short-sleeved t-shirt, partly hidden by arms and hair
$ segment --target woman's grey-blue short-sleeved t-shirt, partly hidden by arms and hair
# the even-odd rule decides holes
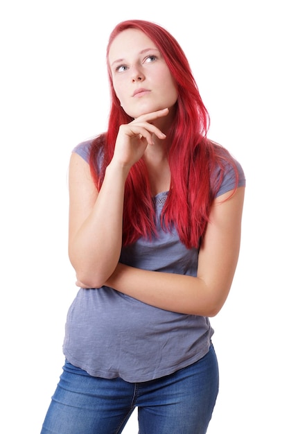
[[[88,161],[91,141],[73,152]],[[245,185],[242,168],[239,186]],[[218,195],[234,188],[229,171]],[[157,238],[122,249],[121,263],[144,270],[197,275],[198,249],[187,249],[177,231],[161,229],[167,192],[155,197]],[[152,254],[153,252],[153,254]],[[103,286],[82,289],[69,308],[63,351],[67,360],[92,376],[129,382],[157,379],[189,366],[207,354],[213,329],[209,318],[164,311]]]

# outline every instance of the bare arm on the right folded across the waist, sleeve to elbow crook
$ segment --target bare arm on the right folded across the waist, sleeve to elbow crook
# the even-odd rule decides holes
[[[160,309],[216,315],[227,299],[238,262],[244,190],[239,187],[231,198],[225,200],[229,192],[213,202],[197,277],[139,270],[119,263],[107,286]]]

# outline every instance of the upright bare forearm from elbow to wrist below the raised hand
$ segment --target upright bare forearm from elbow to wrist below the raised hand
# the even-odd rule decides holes
[[[123,168],[107,166],[94,206],[70,237],[69,258],[78,279],[89,286],[102,286],[119,261],[126,177]]]

